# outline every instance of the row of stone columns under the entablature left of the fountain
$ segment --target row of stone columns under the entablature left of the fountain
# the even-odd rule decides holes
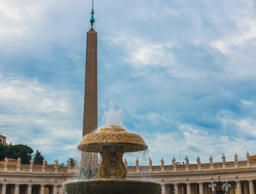
[[[57,194],[58,187],[62,187],[62,184],[13,184],[0,182],[0,194],[45,194],[45,188],[49,189],[48,194]]]

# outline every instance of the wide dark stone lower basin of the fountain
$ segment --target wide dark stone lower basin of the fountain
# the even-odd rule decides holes
[[[161,185],[152,181],[86,180],[64,183],[69,194],[158,194]]]

